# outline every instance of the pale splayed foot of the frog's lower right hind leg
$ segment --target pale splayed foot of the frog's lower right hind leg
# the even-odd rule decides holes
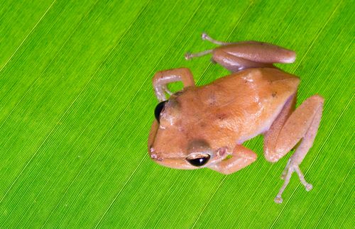
[[[285,169],[283,170],[282,179],[284,179],[285,182],[283,183],[283,186],[281,186],[280,191],[278,191],[278,194],[276,195],[276,197],[274,199],[275,203],[282,203],[283,202],[281,195],[283,194],[283,191],[285,191],[286,186],[288,186],[288,183],[290,182],[290,178],[291,178],[293,172],[297,173],[298,177],[300,178],[301,183],[303,184],[303,186],[305,186],[306,191],[310,191],[313,188],[312,184],[307,183],[307,181],[305,180],[305,176],[303,176],[298,164],[294,164],[292,161],[292,158],[291,158],[288,161],[288,164],[286,165]]]

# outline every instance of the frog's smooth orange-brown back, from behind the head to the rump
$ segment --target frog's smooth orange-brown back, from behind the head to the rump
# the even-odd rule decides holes
[[[203,138],[218,132],[222,141],[243,142],[270,127],[299,82],[279,69],[259,68],[192,89],[184,99],[190,113],[186,128],[193,126],[190,133],[203,133]]]

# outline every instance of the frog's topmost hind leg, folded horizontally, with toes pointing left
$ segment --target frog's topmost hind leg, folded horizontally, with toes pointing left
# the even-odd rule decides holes
[[[221,46],[204,52],[187,53],[185,58],[189,60],[212,53],[212,60],[231,72],[247,68],[273,67],[273,63],[292,63],[296,58],[295,52],[292,50],[269,43],[257,41],[225,43],[210,38],[206,33],[202,34],[202,39]]]

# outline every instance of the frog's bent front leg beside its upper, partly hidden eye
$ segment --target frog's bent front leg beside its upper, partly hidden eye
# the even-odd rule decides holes
[[[185,67],[160,71],[155,73],[153,77],[153,87],[155,96],[159,101],[165,101],[165,93],[172,94],[168,89],[168,84],[181,81],[184,88],[187,86],[195,86],[194,78],[190,69]]]

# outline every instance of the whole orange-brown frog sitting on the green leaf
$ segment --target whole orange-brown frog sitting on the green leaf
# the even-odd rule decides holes
[[[293,50],[258,41],[224,42],[202,33],[217,48],[185,54],[185,59],[212,55],[212,62],[231,74],[203,86],[195,85],[190,69],[156,72],[153,89],[159,103],[148,135],[151,159],[174,169],[207,168],[232,174],[256,161],[255,152],[243,145],[263,135],[263,155],[278,162],[293,151],[281,173],[282,194],[295,172],[306,191],[300,164],[312,147],[322,118],[324,98],[315,94],[297,106],[300,78],[275,67],[293,63]],[[182,82],[180,91],[168,84]],[[168,96],[168,98],[167,98]]]

